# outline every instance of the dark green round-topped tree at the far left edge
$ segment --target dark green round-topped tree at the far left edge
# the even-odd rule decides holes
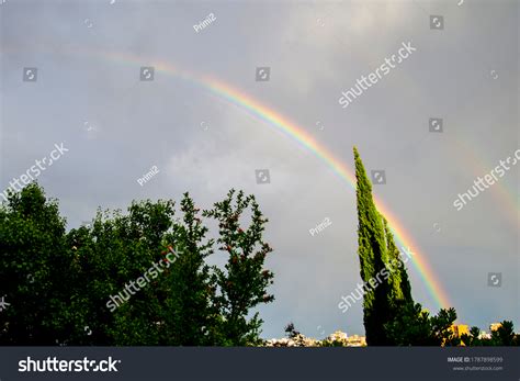
[[[0,206],[0,343],[56,345],[67,337],[71,255],[65,218],[36,184]]]

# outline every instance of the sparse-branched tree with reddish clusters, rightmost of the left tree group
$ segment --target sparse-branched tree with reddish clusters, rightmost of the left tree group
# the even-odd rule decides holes
[[[242,228],[240,218],[250,214],[250,224]],[[262,320],[258,312],[248,320],[250,311],[260,303],[274,300],[267,293],[273,273],[263,269],[265,256],[272,251],[262,234],[268,218],[263,216],[253,195],[230,190],[227,198],[203,213],[218,222],[219,250],[227,253],[225,270],[214,267],[214,282],[218,289],[215,305],[223,317],[223,336],[227,345],[259,343]]]

